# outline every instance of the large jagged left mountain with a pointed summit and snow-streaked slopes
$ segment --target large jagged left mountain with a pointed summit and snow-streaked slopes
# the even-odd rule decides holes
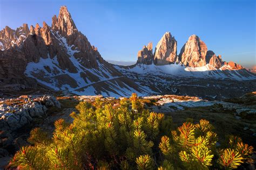
[[[3,63],[2,83],[21,83],[17,80],[18,77],[21,80],[23,77],[30,77],[51,89],[74,93],[79,93],[77,89],[88,86],[90,87],[85,89],[86,93],[91,94],[110,95],[113,92],[114,95],[130,95],[132,91],[144,92],[142,87],[133,82],[129,82],[130,86],[125,84],[127,80],[123,80],[124,76],[106,62],[97,48],[77,30],[66,6],[60,7],[58,17],[52,17],[52,26],[43,22],[43,27],[36,24],[28,32],[28,25],[25,25],[25,29],[22,27],[16,31],[19,33],[16,33],[17,36],[7,28],[8,30],[0,32],[0,41],[4,45],[4,50],[0,52],[0,62]],[[19,62],[16,61],[15,53],[19,54]],[[17,65],[19,69],[16,70],[13,65]],[[113,79],[114,83],[110,81]],[[95,84],[103,81],[109,90],[95,89]]]

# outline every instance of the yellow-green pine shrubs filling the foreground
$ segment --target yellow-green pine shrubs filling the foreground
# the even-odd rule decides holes
[[[31,146],[15,154],[12,166],[25,169],[208,169],[237,168],[252,162],[252,146],[231,137],[217,148],[210,122],[185,122],[143,108],[136,94],[119,107],[80,102],[73,123],[55,122],[52,138],[31,131]]]

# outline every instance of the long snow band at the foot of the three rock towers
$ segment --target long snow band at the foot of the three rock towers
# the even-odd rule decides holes
[[[180,76],[180,77],[199,77],[199,78],[214,78],[214,79],[233,79],[233,80],[255,80],[255,74],[246,70],[233,70],[230,66],[223,66],[219,69],[207,64],[202,67],[188,67],[179,63],[170,65],[156,66],[152,65],[136,65],[133,68],[123,68],[114,66],[120,72],[151,74],[157,76]]]

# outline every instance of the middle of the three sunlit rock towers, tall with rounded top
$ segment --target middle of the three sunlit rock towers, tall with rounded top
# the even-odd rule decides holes
[[[154,51],[154,64],[166,65],[177,62],[177,41],[170,32],[166,32]]]

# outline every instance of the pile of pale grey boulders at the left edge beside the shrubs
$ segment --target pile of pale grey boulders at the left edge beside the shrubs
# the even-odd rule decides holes
[[[34,118],[47,116],[46,111],[51,107],[60,108],[53,96],[20,96],[3,101],[0,104],[0,145],[11,145],[17,129],[32,123]]]

